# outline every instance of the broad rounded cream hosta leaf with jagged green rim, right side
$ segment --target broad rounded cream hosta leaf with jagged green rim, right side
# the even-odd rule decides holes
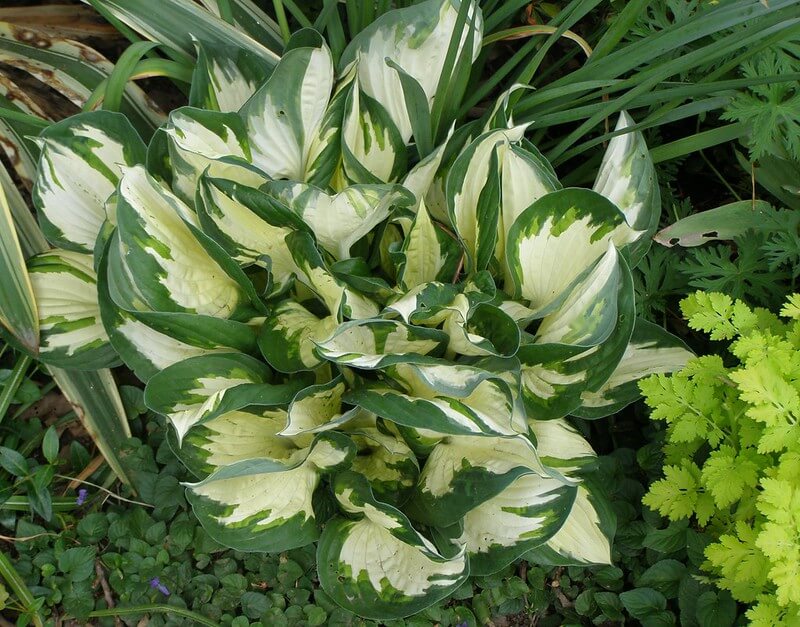
[[[608,251],[622,212],[596,192],[569,188],[551,192],[523,211],[508,233],[507,292],[542,313]]]

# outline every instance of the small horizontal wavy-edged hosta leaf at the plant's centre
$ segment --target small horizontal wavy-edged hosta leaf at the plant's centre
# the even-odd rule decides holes
[[[317,350],[337,364],[372,370],[429,360],[428,356],[440,354],[446,343],[447,336],[436,329],[397,320],[352,320],[339,325],[326,340],[317,342]]]

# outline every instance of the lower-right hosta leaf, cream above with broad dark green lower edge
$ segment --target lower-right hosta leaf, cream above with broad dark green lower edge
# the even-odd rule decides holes
[[[412,516],[436,527],[452,525],[517,477],[531,473],[548,476],[525,436],[445,438],[422,469]]]

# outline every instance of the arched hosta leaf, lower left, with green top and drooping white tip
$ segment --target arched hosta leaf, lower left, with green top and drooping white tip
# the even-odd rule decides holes
[[[233,410],[252,404],[251,398],[242,398],[234,406],[222,405],[227,392],[237,386],[266,383],[270,377],[269,368],[247,355],[202,355],[173,364],[152,376],[145,387],[145,402],[169,419],[180,444],[192,426],[210,420],[221,413],[221,408]],[[283,400],[279,393],[276,396]],[[283,402],[289,400],[291,397]]]

